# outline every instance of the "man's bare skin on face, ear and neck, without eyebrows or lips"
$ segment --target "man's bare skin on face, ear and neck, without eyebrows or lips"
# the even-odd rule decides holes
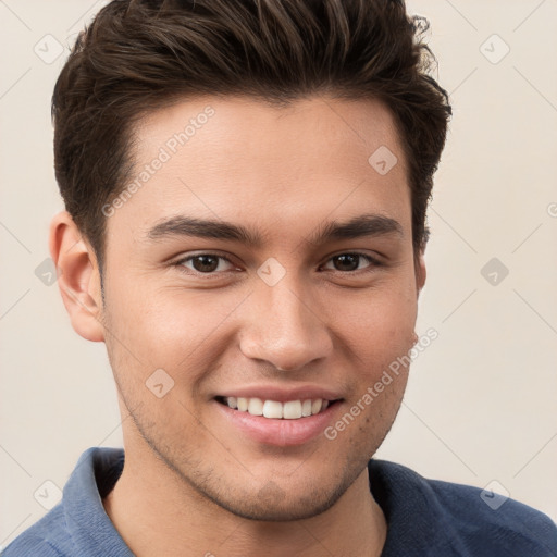
[[[393,119],[375,100],[188,99],[136,128],[137,169],[207,106],[208,123],[108,219],[104,305],[87,240],[66,212],[51,223],[72,325],[106,343],[119,391],[126,460],[104,508],[139,557],[379,556],[387,524],[367,463],[396,417],[407,369],[335,440],[298,446],[255,442],[214,397],[320,385],[342,394],[334,425],[414,344],[425,269]],[[386,175],[368,163],[380,146],[398,158]],[[181,213],[250,226],[264,242],[146,237]],[[401,234],[307,239],[363,213],[394,219]],[[212,276],[194,261],[173,265],[214,251],[232,263],[218,260]],[[334,259],[354,251],[382,264],[360,259],[350,270]],[[285,270],[274,286],[257,273],[269,258]],[[157,369],[174,381],[162,398],[146,388]]]

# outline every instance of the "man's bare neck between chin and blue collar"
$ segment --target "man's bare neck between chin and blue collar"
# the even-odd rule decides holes
[[[159,459],[138,456],[126,448],[122,475],[103,500],[107,515],[137,557],[381,555],[386,521],[371,495],[367,469],[321,515],[263,522],[233,515]]]

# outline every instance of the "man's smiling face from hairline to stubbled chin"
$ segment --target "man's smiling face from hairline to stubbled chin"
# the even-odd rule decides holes
[[[389,430],[408,370],[374,385],[414,341],[421,275],[388,111],[203,98],[150,114],[136,140],[136,186],[106,209],[126,450],[242,517],[325,510]]]

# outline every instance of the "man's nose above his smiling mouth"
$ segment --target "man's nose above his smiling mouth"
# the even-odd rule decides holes
[[[256,288],[246,308],[240,350],[281,371],[296,371],[331,355],[333,343],[319,304],[283,280]]]

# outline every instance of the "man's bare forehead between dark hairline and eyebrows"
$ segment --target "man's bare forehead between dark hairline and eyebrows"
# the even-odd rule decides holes
[[[406,161],[376,100],[188,99],[148,114],[134,139],[133,194],[109,219],[122,234],[146,237],[173,214],[243,221],[265,237],[271,223],[305,234],[360,213],[409,226]]]

